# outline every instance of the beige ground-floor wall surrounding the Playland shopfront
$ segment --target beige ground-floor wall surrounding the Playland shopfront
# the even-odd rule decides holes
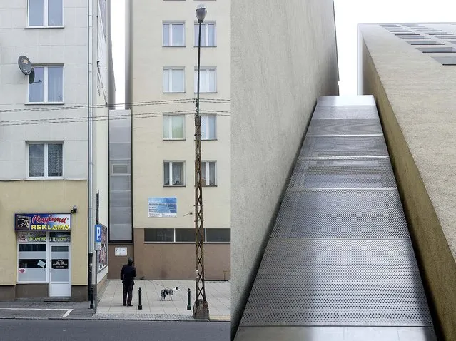
[[[0,285],[17,280],[14,213],[65,213],[71,216],[71,283],[87,285],[87,184],[85,180],[0,182]]]

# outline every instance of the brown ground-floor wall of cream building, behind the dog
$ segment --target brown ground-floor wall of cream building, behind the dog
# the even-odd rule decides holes
[[[142,228],[136,228],[135,266],[138,278],[161,280],[195,279],[194,243],[144,243]],[[204,244],[204,274],[206,280],[228,280],[230,244]]]

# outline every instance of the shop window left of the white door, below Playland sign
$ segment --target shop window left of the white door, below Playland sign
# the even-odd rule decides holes
[[[46,244],[19,244],[18,282],[46,282]]]

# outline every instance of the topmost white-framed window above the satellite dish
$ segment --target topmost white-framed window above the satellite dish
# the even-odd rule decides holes
[[[64,26],[63,0],[29,0],[29,26]]]

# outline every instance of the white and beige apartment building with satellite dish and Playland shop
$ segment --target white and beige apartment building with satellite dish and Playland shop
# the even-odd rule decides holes
[[[108,8],[0,1],[0,300],[84,300],[88,278],[106,279]]]

